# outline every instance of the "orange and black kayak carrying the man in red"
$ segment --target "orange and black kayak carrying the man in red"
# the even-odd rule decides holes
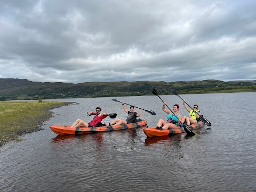
[[[122,125],[113,125],[109,126],[101,126],[101,127],[78,127],[78,128],[71,128],[70,126],[55,126],[51,125],[50,129],[56,134],[85,134],[85,133],[95,133],[95,132],[102,132],[102,131],[117,131],[117,130],[125,130],[125,129],[132,129],[132,128],[139,128],[141,126],[147,125],[147,121],[143,120],[141,122],[136,123],[128,123]]]

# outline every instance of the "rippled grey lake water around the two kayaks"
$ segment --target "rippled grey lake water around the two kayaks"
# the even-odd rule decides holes
[[[194,137],[147,138],[142,129],[61,137],[49,126],[89,122],[86,113],[97,106],[127,117],[112,98],[62,100],[80,104],[53,109],[43,131],[0,148],[0,191],[256,191],[256,92],[180,96],[197,103],[212,126]],[[161,98],[188,114],[176,95]],[[142,110],[149,127],[166,118],[156,96],[115,99],[155,111]]]

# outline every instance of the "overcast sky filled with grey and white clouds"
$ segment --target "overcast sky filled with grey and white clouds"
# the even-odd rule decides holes
[[[0,78],[256,79],[256,1],[0,1]]]

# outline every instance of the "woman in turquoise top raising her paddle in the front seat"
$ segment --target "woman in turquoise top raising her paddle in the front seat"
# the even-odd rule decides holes
[[[180,122],[181,122],[181,115],[179,114],[180,106],[178,104],[175,104],[173,106],[173,113],[169,109],[165,109],[166,103],[163,104],[163,111],[167,113],[167,121],[164,121],[164,119],[159,119],[157,122],[156,129],[175,129],[179,128]]]

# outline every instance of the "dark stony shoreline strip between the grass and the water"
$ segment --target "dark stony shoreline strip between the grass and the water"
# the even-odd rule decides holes
[[[75,102],[61,102],[60,104],[57,104],[57,105],[43,107],[41,114],[39,116],[36,116],[34,119],[29,119],[29,116],[28,116],[27,119],[29,119],[29,120],[22,122],[23,128],[20,127],[18,130],[7,130],[6,131],[11,134],[8,135],[8,137],[0,138],[0,147],[3,147],[3,145],[5,145],[6,143],[11,142],[11,141],[21,141],[22,139],[20,137],[27,133],[33,133],[36,131],[44,130],[44,128],[42,127],[43,123],[45,121],[48,121],[53,115],[53,112],[50,110],[59,108],[59,107],[63,107],[63,106],[73,105],[73,103],[75,103]],[[26,128],[26,125],[27,126],[29,125],[33,128]]]

